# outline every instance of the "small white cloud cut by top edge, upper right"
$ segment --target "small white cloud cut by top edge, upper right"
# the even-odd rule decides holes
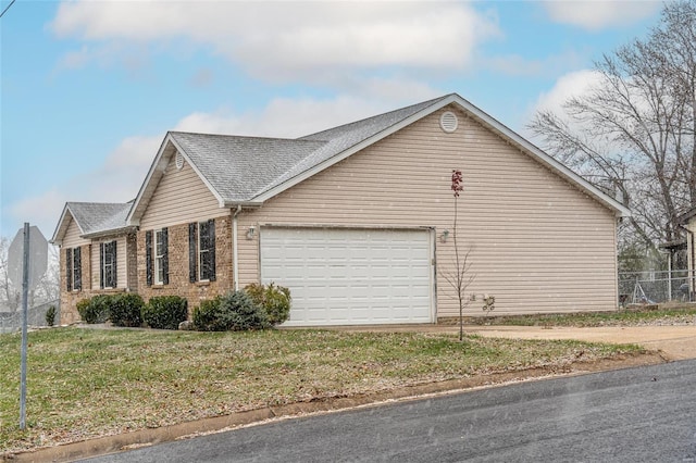
[[[589,30],[624,26],[655,14],[662,2],[654,0],[554,0],[542,3],[549,17]]]

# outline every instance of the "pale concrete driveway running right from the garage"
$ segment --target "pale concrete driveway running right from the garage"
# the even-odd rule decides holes
[[[453,331],[459,328],[447,327]],[[577,339],[635,343],[659,350],[666,360],[696,359],[696,326],[602,326],[592,328],[540,326],[468,326],[465,333],[492,338]]]

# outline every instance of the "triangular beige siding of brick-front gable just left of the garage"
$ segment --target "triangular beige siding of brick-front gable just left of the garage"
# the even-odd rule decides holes
[[[191,166],[185,162],[178,170],[175,159],[173,155],[140,218],[141,229],[202,221],[226,211]]]

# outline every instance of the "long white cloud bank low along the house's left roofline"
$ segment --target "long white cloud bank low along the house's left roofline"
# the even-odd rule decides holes
[[[386,99],[382,88],[390,88]],[[380,95],[383,99],[375,98]],[[357,121],[440,95],[415,83],[388,80],[368,83],[365,96],[334,99],[278,98],[260,111],[234,113],[195,112],[182,117],[172,130],[295,138]],[[160,148],[164,133],[125,138],[105,158],[103,165],[80,172],[65,183],[34,197],[8,204],[5,213],[16,222],[29,220],[52,236],[66,201],[125,202],[135,198]]]

